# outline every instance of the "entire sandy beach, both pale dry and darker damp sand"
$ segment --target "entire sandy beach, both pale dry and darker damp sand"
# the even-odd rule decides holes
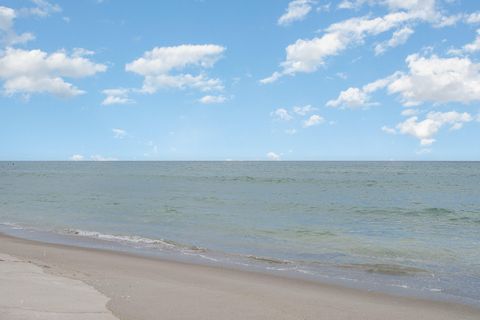
[[[457,304],[5,235],[0,252],[2,320],[480,317]]]

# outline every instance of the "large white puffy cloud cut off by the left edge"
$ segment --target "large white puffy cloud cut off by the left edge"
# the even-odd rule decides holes
[[[80,50],[81,51],[81,50]],[[59,97],[72,97],[84,93],[64,78],[83,78],[107,67],[94,63],[76,51],[48,54],[42,50],[7,48],[0,54],[0,79],[6,95],[50,93]]]

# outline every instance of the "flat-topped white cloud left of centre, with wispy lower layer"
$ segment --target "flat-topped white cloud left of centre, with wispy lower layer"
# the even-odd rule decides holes
[[[144,77],[141,90],[144,93],[154,93],[160,88],[222,90],[222,82],[204,72],[213,67],[224,51],[224,47],[213,44],[156,47],[128,63],[125,70]],[[186,70],[194,68],[200,73],[193,75]]]

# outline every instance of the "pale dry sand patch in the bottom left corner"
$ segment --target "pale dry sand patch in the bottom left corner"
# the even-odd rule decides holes
[[[58,277],[0,253],[0,319],[115,320],[108,298],[82,281]]]

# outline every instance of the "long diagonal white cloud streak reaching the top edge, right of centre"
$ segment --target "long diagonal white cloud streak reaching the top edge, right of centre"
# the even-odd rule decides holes
[[[435,24],[443,17],[436,8],[435,0],[349,1],[348,3],[379,4],[386,6],[389,13],[375,18],[369,16],[350,18],[330,25],[319,37],[297,40],[285,49],[286,58],[280,64],[281,70],[260,82],[266,84],[285,75],[317,71],[325,64],[328,57],[336,56],[351,46],[364,43],[368,36],[396,30],[390,41],[378,47],[377,52],[384,52],[389,47],[404,43],[413,33],[413,29],[405,27],[406,24],[417,22]]]

